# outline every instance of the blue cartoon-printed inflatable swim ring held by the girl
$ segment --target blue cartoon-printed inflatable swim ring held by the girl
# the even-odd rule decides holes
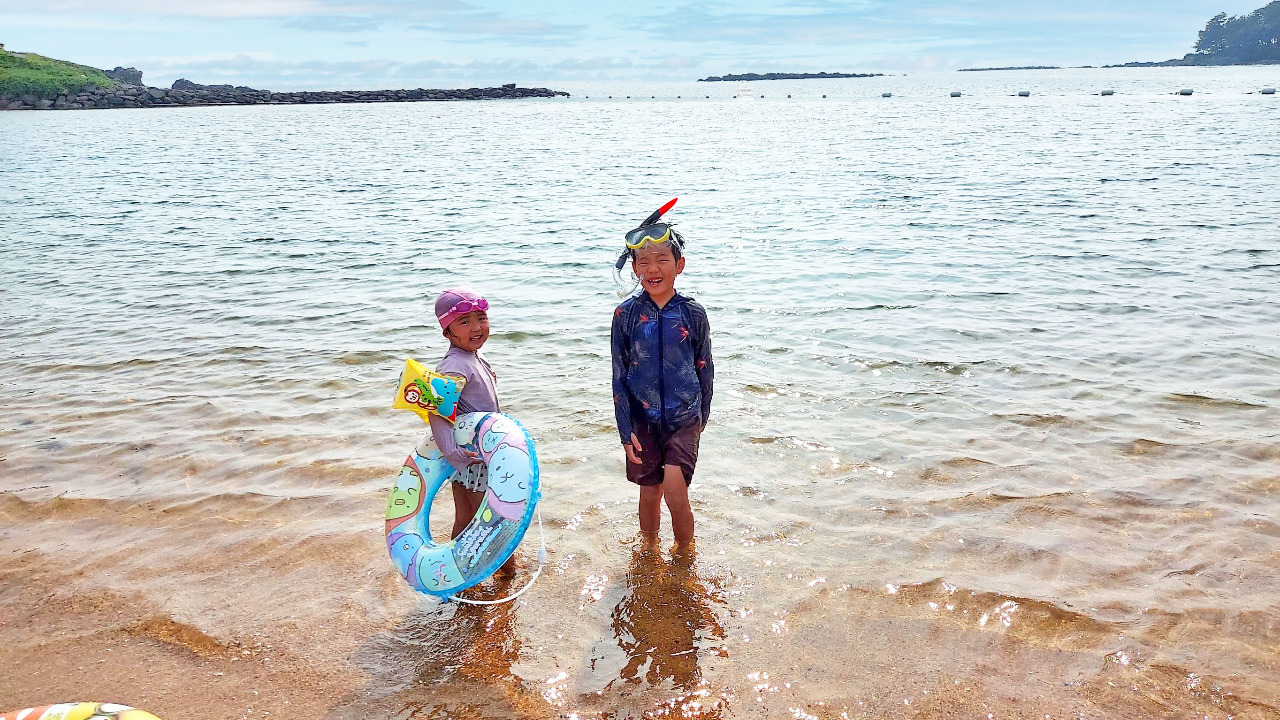
[[[406,368],[406,374],[410,372]],[[452,382],[436,377],[445,379],[442,386]],[[402,378],[397,401],[406,387]],[[456,389],[440,389],[456,397]],[[387,501],[392,562],[413,589],[444,600],[483,582],[511,557],[541,498],[534,438],[515,418],[500,413],[461,415],[453,425],[453,441],[480,456],[489,486],[475,518],[457,538],[444,544],[431,539],[431,502],[456,473],[434,439],[422,442],[404,460]]]

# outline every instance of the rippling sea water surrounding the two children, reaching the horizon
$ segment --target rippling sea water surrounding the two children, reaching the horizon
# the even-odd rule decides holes
[[[1280,100],[1198,73],[0,114],[0,547],[357,667],[330,717],[1274,717]],[[635,544],[608,389],[620,234],[676,195],[694,559]],[[381,547],[457,282],[543,461],[499,610]]]

